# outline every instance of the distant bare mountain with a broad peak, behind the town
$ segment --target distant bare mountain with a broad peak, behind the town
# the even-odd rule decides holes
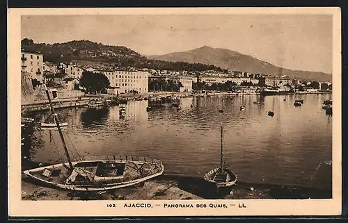
[[[148,56],[149,59],[182,61],[187,63],[212,64],[232,71],[244,71],[253,74],[270,74],[276,76],[289,76],[292,79],[331,81],[331,74],[322,72],[297,71],[276,67],[270,63],[258,60],[252,56],[244,55],[229,49],[200,47],[190,51],[168,53],[162,56]]]

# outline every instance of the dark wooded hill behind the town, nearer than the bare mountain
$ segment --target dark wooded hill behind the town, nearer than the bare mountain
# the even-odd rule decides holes
[[[187,70],[189,72],[215,70],[223,72],[221,67],[203,65],[200,63],[168,62],[152,60],[141,56],[136,51],[127,47],[109,46],[89,40],[74,40],[70,42],[45,44],[34,43],[33,40],[24,38],[21,41],[22,50],[39,51],[44,55],[44,60],[58,63],[71,61],[90,61],[95,63],[108,63],[111,67],[118,68],[148,68],[167,70]]]

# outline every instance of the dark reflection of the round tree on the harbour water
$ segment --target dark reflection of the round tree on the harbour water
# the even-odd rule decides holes
[[[84,128],[91,128],[104,124],[109,117],[109,107],[104,106],[102,108],[86,108],[81,112],[81,124]]]

